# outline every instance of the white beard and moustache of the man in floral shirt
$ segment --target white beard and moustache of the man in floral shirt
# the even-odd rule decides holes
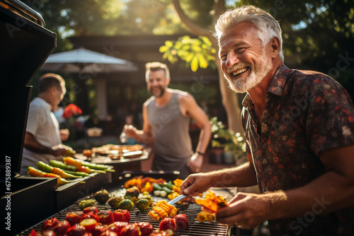
[[[232,68],[227,69],[228,75],[225,76],[225,79],[229,83],[230,88],[234,90],[236,93],[246,93],[246,91],[254,88],[258,83],[260,83],[263,78],[267,75],[267,73],[272,69],[272,63],[270,59],[268,59],[263,53],[259,58],[259,63],[255,64],[254,67],[251,67],[249,63],[240,62],[239,64],[234,65]],[[249,76],[241,76],[240,78],[228,78],[229,71],[234,71],[234,67],[242,68],[249,67]]]

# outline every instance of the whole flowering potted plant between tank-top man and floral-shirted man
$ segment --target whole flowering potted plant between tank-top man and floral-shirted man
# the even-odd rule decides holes
[[[219,158],[221,154],[222,163],[233,164],[237,159],[246,155],[245,148],[246,143],[244,137],[240,133],[234,133],[234,131],[227,129],[222,122],[217,120],[217,117],[210,118],[210,124],[212,125],[212,148],[216,148],[214,156],[210,158]],[[211,163],[218,163],[219,159],[211,160]]]

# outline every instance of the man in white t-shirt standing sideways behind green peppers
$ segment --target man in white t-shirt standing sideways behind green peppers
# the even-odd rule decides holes
[[[46,73],[38,83],[38,97],[30,102],[28,121],[23,143],[21,175],[27,174],[29,166],[36,167],[38,161],[60,160],[66,148],[56,148],[67,140],[69,131],[59,130],[59,123],[52,111],[67,92],[62,76]]]

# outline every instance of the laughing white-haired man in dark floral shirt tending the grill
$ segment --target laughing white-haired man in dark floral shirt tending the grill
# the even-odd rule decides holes
[[[216,212],[217,221],[271,235],[354,235],[354,108],[333,78],[283,64],[280,25],[255,6],[215,26],[224,76],[247,92],[242,120],[248,162],[190,175],[181,193],[258,184]],[[206,211],[206,210],[205,210]]]

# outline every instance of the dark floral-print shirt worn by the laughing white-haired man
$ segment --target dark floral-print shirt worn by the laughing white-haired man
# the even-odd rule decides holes
[[[252,154],[261,192],[304,186],[326,171],[321,151],[354,144],[353,102],[329,76],[281,65],[265,102],[261,124],[249,95],[242,110],[246,151]],[[354,235],[354,208],[302,220],[269,220],[271,235]]]

